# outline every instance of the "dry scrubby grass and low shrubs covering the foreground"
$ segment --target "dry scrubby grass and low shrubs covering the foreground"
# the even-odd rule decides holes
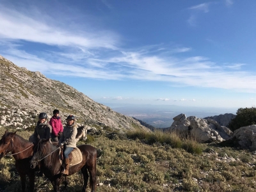
[[[17,133],[24,138],[31,134]],[[122,140],[115,133],[113,139],[95,134],[86,141],[99,153],[97,183],[102,186],[97,191],[256,191],[255,156],[246,150],[199,144],[163,132],[127,132],[127,139],[120,134]],[[6,191],[20,191],[13,167],[13,160],[1,161],[0,188]],[[72,175],[67,191],[81,191],[82,180],[81,173]],[[36,190],[51,191],[52,186],[40,178]]]

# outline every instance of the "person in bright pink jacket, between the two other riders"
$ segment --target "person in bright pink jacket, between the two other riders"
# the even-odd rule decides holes
[[[63,125],[61,124],[59,114],[60,111],[58,109],[54,109],[53,116],[49,122],[49,124],[52,126],[52,141],[59,141],[63,132]]]

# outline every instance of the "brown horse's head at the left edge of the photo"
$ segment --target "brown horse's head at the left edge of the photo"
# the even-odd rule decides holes
[[[8,152],[12,151],[13,147],[13,137],[15,136],[17,131],[15,132],[8,132],[6,130],[4,132],[4,135],[2,136],[0,140],[0,159],[7,154]]]

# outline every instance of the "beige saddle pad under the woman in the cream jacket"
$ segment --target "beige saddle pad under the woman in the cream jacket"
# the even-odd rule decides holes
[[[60,150],[60,164],[62,166],[64,166],[63,165],[63,159],[64,159],[63,152],[64,152],[64,147],[61,146],[61,150]],[[82,156],[82,153],[79,150],[79,148],[77,148],[77,147],[74,148],[72,150],[72,152],[70,154],[68,154],[68,159],[69,159],[69,166],[73,166],[75,164],[81,163],[83,161],[83,156]]]

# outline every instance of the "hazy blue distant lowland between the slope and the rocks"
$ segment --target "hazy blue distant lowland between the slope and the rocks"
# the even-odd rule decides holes
[[[184,113],[188,116],[205,118],[207,116],[232,113],[236,115],[237,108],[200,108],[184,107],[175,105],[150,105],[150,104],[104,104],[118,113],[132,116],[142,120],[156,128],[170,127],[173,123],[173,117]]]

